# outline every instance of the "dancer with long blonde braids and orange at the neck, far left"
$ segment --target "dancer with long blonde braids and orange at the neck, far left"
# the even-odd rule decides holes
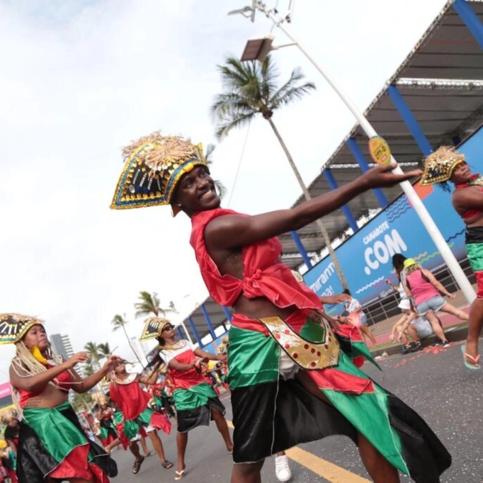
[[[18,481],[107,483],[108,476],[116,476],[115,462],[82,431],[69,390],[89,391],[118,358],[110,356],[101,370],[83,380],[74,366],[88,360],[87,354],[66,361],[53,356],[42,322],[21,314],[0,314],[0,343],[16,344],[10,382],[21,416]]]

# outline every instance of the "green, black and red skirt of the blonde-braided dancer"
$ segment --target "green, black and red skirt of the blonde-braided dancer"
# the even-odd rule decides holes
[[[23,409],[17,454],[20,483],[43,483],[47,477],[108,483],[118,474],[106,450],[86,437],[68,402]]]

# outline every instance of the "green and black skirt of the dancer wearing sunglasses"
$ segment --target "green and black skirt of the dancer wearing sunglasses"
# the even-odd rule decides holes
[[[208,426],[212,419],[212,408],[225,414],[225,406],[208,382],[200,382],[186,389],[176,389],[173,399],[178,419],[178,433],[187,433],[197,426]]]

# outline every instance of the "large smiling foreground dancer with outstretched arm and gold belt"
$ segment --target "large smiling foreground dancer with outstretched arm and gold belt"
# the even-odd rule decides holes
[[[205,285],[234,311],[232,483],[261,482],[266,456],[334,434],[353,439],[377,483],[398,482],[397,470],[418,483],[438,482],[451,462],[443,444],[415,411],[353,365],[357,349],[336,337],[319,297],[280,263],[276,238],[420,171],[396,175],[394,166],[376,166],[295,208],[249,216],[220,208],[200,145],[154,133],[125,154],[111,206],[170,204],[174,215],[188,215]]]

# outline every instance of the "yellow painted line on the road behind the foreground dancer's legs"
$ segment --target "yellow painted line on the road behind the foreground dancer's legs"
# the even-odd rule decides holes
[[[227,424],[229,428],[234,429],[232,421],[227,420]],[[331,483],[370,483],[369,479],[365,479],[355,473],[344,470],[330,461],[323,460],[306,450],[297,448],[297,446],[295,446],[295,448],[290,448],[290,450],[286,450],[285,454],[290,460],[294,460],[299,465],[305,466],[308,470],[325,478]]]

